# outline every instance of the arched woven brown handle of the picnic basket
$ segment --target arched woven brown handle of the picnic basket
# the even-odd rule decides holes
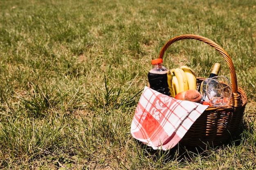
[[[212,40],[209,40],[208,38],[202,37],[200,35],[192,35],[192,34],[185,34],[185,35],[180,35],[175,38],[172,38],[168,42],[166,42],[166,44],[164,44],[164,46],[162,47],[160,54],[159,54],[159,58],[163,58],[164,52],[171,44],[173,44],[176,41],[185,40],[185,39],[199,40],[199,41],[205,42],[205,43],[209,44],[210,46],[212,46],[214,49],[216,49],[224,57],[225,61],[227,62],[228,66],[229,66],[229,70],[230,70],[231,82],[232,82],[232,92],[238,93],[236,71],[234,68],[234,64],[231,60],[231,57],[229,57],[228,53],[224,49],[222,49],[218,44],[216,44]],[[238,95],[238,94],[236,94],[236,95]]]

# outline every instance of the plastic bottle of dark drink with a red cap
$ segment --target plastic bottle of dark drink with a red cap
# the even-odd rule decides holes
[[[170,92],[167,83],[167,73],[169,69],[164,67],[162,63],[162,58],[151,61],[153,68],[148,72],[148,82],[150,84],[150,88],[169,96]]]

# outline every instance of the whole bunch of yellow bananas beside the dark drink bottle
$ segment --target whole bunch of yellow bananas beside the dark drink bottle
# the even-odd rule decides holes
[[[196,89],[195,73],[188,66],[173,68],[167,74],[171,97],[189,89]]]

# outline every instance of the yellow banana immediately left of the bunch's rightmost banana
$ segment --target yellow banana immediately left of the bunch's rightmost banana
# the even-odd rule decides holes
[[[186,79],[186,75],[184,71],[181,68],[175,68],[174,74],[175,74],[175,77],[177,77],[178,84],[179,84],[179,91],[177,91],[177,93],[189,90],[188,81]]]

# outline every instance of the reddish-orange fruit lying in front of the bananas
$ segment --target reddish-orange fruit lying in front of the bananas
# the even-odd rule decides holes
[[[175,99],[201,103],[202,95],[195,89],[189,89],[187,91],[178,93],[175,96]]]

